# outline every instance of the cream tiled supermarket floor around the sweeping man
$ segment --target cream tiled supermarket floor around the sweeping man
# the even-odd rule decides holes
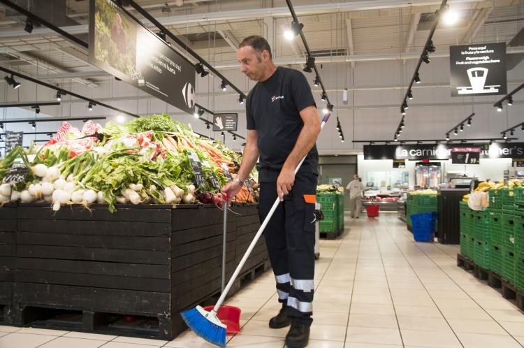
[[[524,314],[456,266],[457,245],[416,243],[393,215],[346,219],[321,240],[310,348],[524,347]],[[268,328],[279,304],[272,273],[231,298],[242,331],[228,347],[284,346]],[[191,331],[171,342],[0,326],[0,348],[208,348]]]

